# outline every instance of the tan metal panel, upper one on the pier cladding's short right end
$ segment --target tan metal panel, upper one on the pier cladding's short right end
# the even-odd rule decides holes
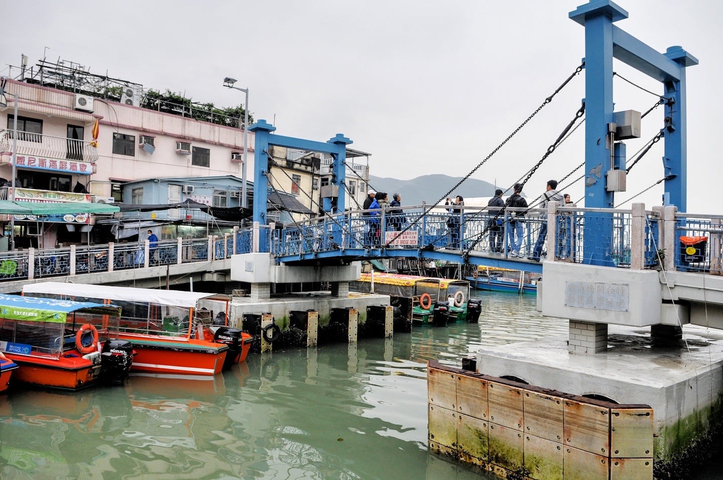
[[[653,457],[652,408],[610,408],[610,456]]]

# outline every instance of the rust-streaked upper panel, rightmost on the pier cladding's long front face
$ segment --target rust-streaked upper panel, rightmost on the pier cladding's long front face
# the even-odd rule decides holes
[[[609,408],[566,399],[563,401],[564,445],[608,456],[610,453]]]

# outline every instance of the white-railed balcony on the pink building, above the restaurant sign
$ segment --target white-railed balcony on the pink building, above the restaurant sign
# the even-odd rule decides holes
[[[71,160],[71,162],[95,163],[98,160],[98,148],[90,145],[85,140],[73,140],[64,137],[51,137],[32,132],[17,132],[17,155],[25,158],[33,158],[34,161],[46,160]],[[0,164],[8,164],[12,155],[12,129],[0,130]],[[20,158],[18,167],[41,168],[22,164]],[[69,173],[85,173],[85,171],[72,171]]]

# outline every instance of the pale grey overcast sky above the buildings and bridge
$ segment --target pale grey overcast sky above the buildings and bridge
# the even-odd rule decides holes
[[[2,64],[46,53],[90,72],[236,106],[276,133],[326,141],[336,133],[372,153],[376,176],[465,176],[550,95],[584,56],[584,29],[568,18],[583,0],[275,0],[4,2]],[[680,45],[701,63],[688,78],[688,211],[718,213],[723,167],[716,101],[722,78],[719,0],[617,2],[615,25],[657,51]],[[685,6],[683,4],[685,3]],[[45,47],[48,47],[46,49]],[[615,71],[656,93],[662,86],[615,61]],[[2,74],[7,74],[4,67]],[[616,79],[615,110],[646,111],[650,93]],[[584,96],[584,72],[474,173],[509,187],[542,158]],[[636,153],[662,128],[658,108],[642,122]],[[583,127],[525,189],[583,162]],[[628,176],[616,204],[662,178],[663,142]],[[571,178],[577,178],[582,170]],[[450,188],[452,185],[450,184]],[[582,181],[563,188],[577,200]],[[636,201],[660,205],[662,184]],[[437,200],[437,199],[429,199]],[[629,203],[625,207],[629,207]]]

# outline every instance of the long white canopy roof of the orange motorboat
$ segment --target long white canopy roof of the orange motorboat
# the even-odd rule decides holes
[[[195,291],[155,290],[152,288],[116,287],[62,282],[31,283],[22,287],[24,295],[33,293],[51,293],[65,297],[85,297],[88,299],[108,299],[112,301],[137,301],[158,305],[195,308],[201,299],[229,301],[228,295],[221,293],[202,293]]]

